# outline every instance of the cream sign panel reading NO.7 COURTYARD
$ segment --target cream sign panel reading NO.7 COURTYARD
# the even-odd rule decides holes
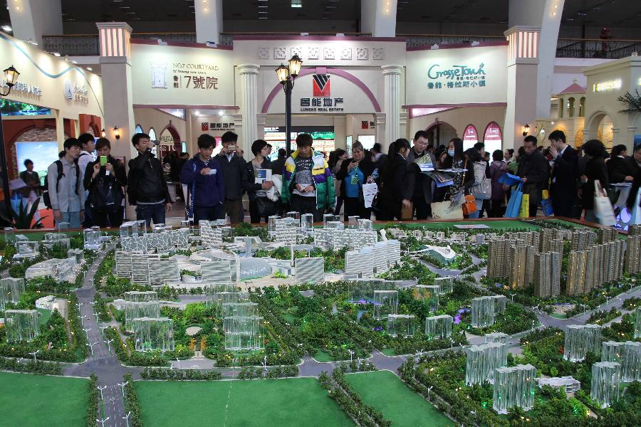
[[[135,105],[234,105],[232,51],[131,45]]]

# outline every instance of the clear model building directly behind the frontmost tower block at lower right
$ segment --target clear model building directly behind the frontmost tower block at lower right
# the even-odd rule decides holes
[[[499,342],[472,345],[466,349],[467,367],[465,370],[465,384],[483,384],[492,382],[494,369],[507,364],[507,346]]]

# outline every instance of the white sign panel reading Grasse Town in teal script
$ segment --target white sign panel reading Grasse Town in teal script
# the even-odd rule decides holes
[[[507,46],[407,52],[408,105],[506,102]]]

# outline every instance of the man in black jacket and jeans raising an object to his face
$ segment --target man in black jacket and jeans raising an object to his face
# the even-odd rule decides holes
[[[129,204],[136,205],[137,220],[144,219],[147,227],[165,223],[165,209],[172,210],[172,199],[167,189],[162,164],[152,154],[154,145],[149,135],[137,133],[131,143],[138,150],[138,157],[129,161],[127,196]]]

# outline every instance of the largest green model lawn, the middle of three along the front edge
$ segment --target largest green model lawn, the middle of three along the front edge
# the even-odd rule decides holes
[[[145,426],[353,426],[313,378],[135,385]]]

